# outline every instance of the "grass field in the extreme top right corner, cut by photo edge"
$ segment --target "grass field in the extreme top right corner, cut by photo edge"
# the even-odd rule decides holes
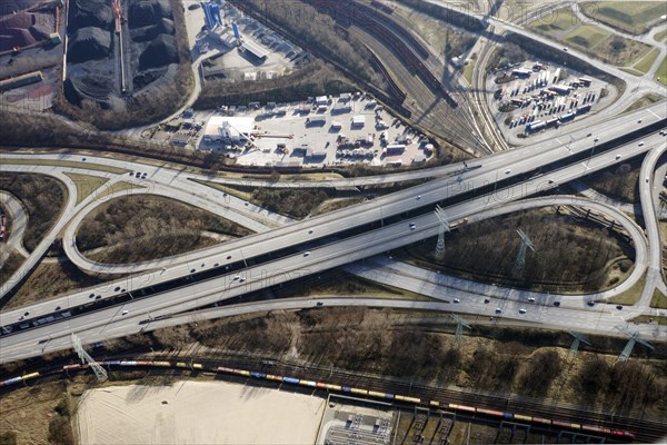
[[[648,23],[667,14],[660,1],[603,1],[581,4],[581,12],[601,23],[633,34],[648,31]]]

